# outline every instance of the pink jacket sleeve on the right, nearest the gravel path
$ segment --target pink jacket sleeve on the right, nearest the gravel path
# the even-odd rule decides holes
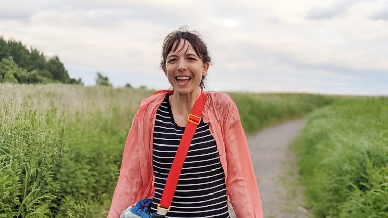
[[[247,139],[233,100],[227,96],[222,108],[224,143],[227,159],[227,189],[237,217],[263,218]]]

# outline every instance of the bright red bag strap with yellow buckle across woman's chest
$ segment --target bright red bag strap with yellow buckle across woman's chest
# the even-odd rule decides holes
[[[182,171],[183,163],[186,159],[188,149],[190,148],[192,137],[196,132],[197,125],[201,122],[201,113],[205,105],[206,94],[201,93],[201,96],[194,103],[191,114],[187,118],[187,125],[183,132],[182,140],[179,143],[177,153],[175,154],[173,165],[170,173],[167,176],[166,185],[163,190],[160,204],[158,205],[157,214],[166,215],[174,197],[174,192],[178,184],[178,179]]]

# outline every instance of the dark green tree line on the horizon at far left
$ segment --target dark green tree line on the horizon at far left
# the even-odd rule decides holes
[[[43,52],[27,49],[13,38],[0,36],[0,83],[67,83],[82,84],[81,78],[70,78],[58,56],[45,57]]]

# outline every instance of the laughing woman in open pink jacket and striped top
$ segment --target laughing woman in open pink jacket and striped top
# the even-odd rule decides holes
[[[161,68],[172,92],[159,92],[140,104],[123,154],[109,218],[144,198],[156,207],[211,59],[197,32],[180,28],[163,43]],[[166,217],[263,217],[259,191],[234,102],[208,93]]]

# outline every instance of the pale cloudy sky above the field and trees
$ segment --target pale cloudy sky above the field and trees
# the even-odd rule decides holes
[[[388,95],[386,0],[0,0],[0,35],[85,85],[167,89],[161,46],[183,25],[208,45],[208,90]]]

